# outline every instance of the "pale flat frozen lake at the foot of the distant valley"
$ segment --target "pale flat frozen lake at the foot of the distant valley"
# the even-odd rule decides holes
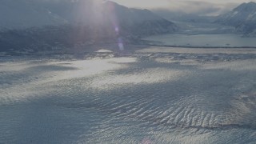
[[[255,47],[256,38],[245,38],[238,34],[165,34],[144,38],[167,46],[199,47]]]

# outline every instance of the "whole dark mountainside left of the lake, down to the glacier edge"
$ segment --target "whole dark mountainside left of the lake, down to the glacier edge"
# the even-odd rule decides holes
[[[92,0],[0,2],[0,52],[115,42],[178,30],[150,10]]]

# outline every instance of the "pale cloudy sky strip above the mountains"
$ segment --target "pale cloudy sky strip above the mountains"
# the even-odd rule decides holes
[[[186,13],[222,14],[232,10],[242,2],[256,2],[256,0],[112,0],[123,6],[166,9]]]

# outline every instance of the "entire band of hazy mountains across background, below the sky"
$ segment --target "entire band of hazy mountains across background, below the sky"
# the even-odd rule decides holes
[[[72,49],[119,41],[138,44],[140,38],[154,34],[237,32],[256,36],[255,2],[242,3],[218,17],[180,12],[172,16],[172,13],[170,10],[152,13],[102,0],[1,0],[0,54]],[[213,30],[207,31],[209,26]]]

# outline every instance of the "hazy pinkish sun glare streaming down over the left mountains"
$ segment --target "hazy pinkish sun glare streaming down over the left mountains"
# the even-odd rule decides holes
[[[106,34],[109,34],[110,37],[116,38],[116,46],[118,46],[119,50],[125,50],[125,45],[120,35],[121,28],[118,23],[118,12],[116,11],[114,2],[95,0],[82,1],[78,4],[78,15],[75,15],[75,17],[77,17],[78,22],[82,19],[82,22],[86,22],[86,24],[89,23],[91,27],[96,27],[94,32],[91,33],[94,41],[102,41],[101,33],[104,31]]]

